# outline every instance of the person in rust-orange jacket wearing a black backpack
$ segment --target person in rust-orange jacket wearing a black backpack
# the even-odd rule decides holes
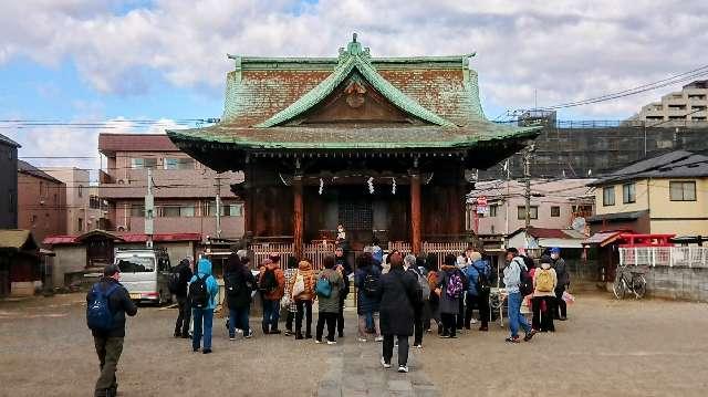
[[[285,273],[280,269],[280,255],[270,255],[260,271],[258,284],[263,300],[263,334],[280,334],[280,300],[285,295]]]

